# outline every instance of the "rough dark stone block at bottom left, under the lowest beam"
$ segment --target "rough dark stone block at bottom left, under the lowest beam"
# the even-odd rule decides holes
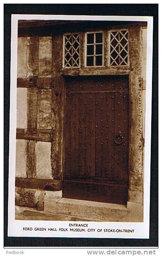
[[[35,207],[35,190],[16,187],[15,204]]]

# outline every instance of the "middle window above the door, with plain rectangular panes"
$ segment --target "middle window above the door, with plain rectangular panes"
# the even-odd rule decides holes
[[[103,33],[86,34],[86,66],[103,66]]]

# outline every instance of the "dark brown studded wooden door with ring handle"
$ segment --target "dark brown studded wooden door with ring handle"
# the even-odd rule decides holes
[[[68,78],[63,197],[126,204],[127,76]]]

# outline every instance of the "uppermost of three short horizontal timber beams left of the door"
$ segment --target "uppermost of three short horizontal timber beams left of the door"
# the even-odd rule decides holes
[[[17,78],[17,87],[22,88],[42,88],[48,89],[53,86],[52,77],[18,77]]]

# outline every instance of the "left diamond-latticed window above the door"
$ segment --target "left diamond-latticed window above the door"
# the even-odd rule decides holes
[[[80,66],[80,35],[64,36],[64,67]]]

